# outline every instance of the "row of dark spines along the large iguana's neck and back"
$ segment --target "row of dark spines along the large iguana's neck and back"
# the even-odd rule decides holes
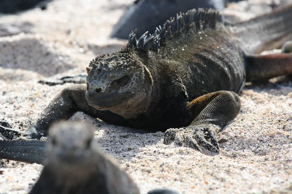
[[[186,13],[177,14],[176,18],[171,17],[167,20],[163,27],[156,28],[154,34],[145,32],[139,39],[136,38],[136,30],[130,32],[128,44],[122,48],[122,52],[128,52],[131,49],[140,50],[155,50],[163,47],[167,40],[173,37],[175,32],[180,32],[182,29],[194,23],[192,30],[196,32],[204,31],[208,28],[214,29],[217,22],[221,22],[222,17],[218,11],[214,9],[199,8],[192,9]]]

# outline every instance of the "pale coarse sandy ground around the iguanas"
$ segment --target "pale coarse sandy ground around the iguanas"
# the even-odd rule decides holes
[[[70,85],[38,80],[82,73],[96,55],[126,45],[109,34],[131,1],[55,0],[45,11],[0,16],[0,24],[30,26],[30,32],[0,37],[0,119],[24,131]],[[249,11],[241,16],[254,16]],[[228,140],[220,154],[164,145],[163,132],[113,126],[84,113],[71,120],[96,128],[102,149],[121,162],[142,194],[163,187],[183,194],[292,193],[292,81],[248,85],[240,99],[241,112],[219,134]],[[0,194],[27,193],[41,169],[1,160]]]

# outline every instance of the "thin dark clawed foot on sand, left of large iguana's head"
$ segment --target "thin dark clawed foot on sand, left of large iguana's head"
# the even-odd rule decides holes
[[[80,74],[77,76],[66,76],[58,80],[40,80],[38,83],[53,85],[63,85],[64,83],[86,83],[86,74]]]

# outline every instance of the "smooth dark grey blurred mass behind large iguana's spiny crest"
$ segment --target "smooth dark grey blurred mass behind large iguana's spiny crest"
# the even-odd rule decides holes
[[[222,10],[226,0],[135,0],[113,27],[111,37],[127,39],[131,30],[137,26],[136,35],[141,36],[148,31],[154,33],[155,28],[163,25],[169,17],[179,12],[187,12],[192,8],[213,8]],[[165,9],[167,7],[167,9]],[[140,25],[142,24],[143,25]]]

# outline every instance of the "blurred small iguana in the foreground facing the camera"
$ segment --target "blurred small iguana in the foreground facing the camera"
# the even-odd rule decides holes
[[[100,150],[89,126],[63,121],[53,125],[49,136],[45,166],[29,194],[140,193],[128,174]],[[149,194],[177,193],[157,189]]]

